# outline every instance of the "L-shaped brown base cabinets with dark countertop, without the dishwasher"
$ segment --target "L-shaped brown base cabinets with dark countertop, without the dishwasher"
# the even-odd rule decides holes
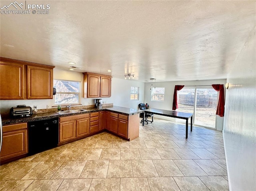
[[[106,106],[101,109],[84,108],[80,112],[64,114],[59,114],[56,109],[50,109],[49,112],[34,113],[25,118],[3,118],[4,144],[1,151],[1,163],[29,155],[28,124],[33,121],[42,120],[43,123],[44,120],[56,118],[58,120],[58,146],[104,131],[130,141],[139,136],[138,114],[141,112],[143,111],[138,109]],[[18,148],[18,150],[16,149],[13,153],[10,148]]]

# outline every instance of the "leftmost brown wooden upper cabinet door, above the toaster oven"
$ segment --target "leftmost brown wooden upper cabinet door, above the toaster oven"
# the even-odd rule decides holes
[[[0,99],[24,99],[24,89],[24,65],[1,61]]]

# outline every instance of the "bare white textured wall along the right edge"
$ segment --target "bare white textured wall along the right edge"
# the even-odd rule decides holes
[[[224,147],[230,191],[256,190],[256,30],[228,75]]]

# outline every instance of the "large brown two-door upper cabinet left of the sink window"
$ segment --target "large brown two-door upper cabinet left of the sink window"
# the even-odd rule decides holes
[[[52,99],[54,66],[0,58],[0,99]]]

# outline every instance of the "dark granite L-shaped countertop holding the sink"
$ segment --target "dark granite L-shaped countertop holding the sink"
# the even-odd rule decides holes
[[[56,118],[56,117],[66,117],[66,116],[72,116],[72,115],[79,115],[79,114],[86,114],[86,113],[92,113],[97,111],[112,111],[123,115],[134,115],[143,112],[139,109],[133,109],[133,108],[126,108],[126,107],[120,107],[120,106],[106,106],[104,108],[98,109],[98,108],[85,108],[85,111],[83,112],[75,112],[75,113],[67,113],[67,114],[58,114],[56,111],[52,112],[44,112],[44,113],[33,113],[32,116],[29,117],[23,117],[23,118],[2,118],[2,124],[8,125],[8,124],[16,124],[16,123],[22,123],[22,122],[29,122],[29,121],[35,121],[35,120],[42,120],[42,119],[50,119],[50,118]]]

